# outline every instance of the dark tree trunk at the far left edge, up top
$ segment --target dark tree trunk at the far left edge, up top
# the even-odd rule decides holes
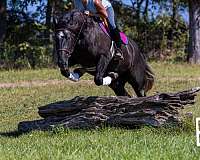
[[[6,35],[6,0],[0,1],[0,44]]]

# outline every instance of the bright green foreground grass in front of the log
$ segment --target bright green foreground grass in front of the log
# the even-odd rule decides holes
[[[32,132],[1,138],[2,159],[196,159],[191,133],[166,129]]]

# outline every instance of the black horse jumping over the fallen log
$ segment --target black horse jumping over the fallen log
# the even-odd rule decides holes
[[[116,61],[111,53],[111,39],[102,31],[94,17],[73,10],[54,19],[58,66],[62,75],[70,76],[69,65],[79,64],[74,70],[82,76],[85,72],[94,75],[96,85],[102,85],[110,73],[112,88],[117,96],[130,96],[125,90],[131,84],[137,96],[145,96],[154,83],[154,74],[140,53],[137,45],[129,39],[123,45],[124,60]],[[91,68],[94,70],[91,70]]]

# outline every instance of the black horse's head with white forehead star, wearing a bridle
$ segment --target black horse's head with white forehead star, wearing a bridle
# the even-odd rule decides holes
[[[72,11],[58,19],[54,18],[54,25],[58,66],[61,73],[68,77],[68,60],[74,51],[83,28],[84,15],[79,11]]]

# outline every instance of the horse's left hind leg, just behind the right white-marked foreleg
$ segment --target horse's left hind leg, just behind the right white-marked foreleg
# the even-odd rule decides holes
[[[126,81],[120,78],[113,81],[109,87],[115,92],[117,96],[128,96],[131,97],[126,89],[124,88]]]

